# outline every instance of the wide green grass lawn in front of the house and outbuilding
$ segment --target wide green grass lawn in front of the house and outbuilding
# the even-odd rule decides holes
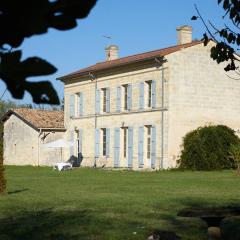
[[[147,239],[154,229],[206,239],[199,219],[177,217],[190,206],[239,204],[233,171],[132,172],[7,167],[0,196],[0,239]]]

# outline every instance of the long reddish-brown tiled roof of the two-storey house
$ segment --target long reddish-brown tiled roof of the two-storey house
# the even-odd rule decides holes
[[[151,59],[154,57],[159,57],[159,56],[163,57],[170,53],[177,52],[183,48],[195,46],[200,43],[202,43],[202,41],[193,41],[191,43],[176,45],[176,46],[172,46],[172,47],[168,47],[168,48],[162,48],[159,50],[154,50],[154,51],[150,51],[150,52],[131,55],[128,57],[118,58],[118,59],[111,60],[111,61],[99,62],[90,67],[83,68],[79,71],[73,72],[73,73],[65,75],[63,77],[59,77],[58,79],[65,80],[65,79],[68,79],[71,77],[77,77],[77,76],[81,76],[84,74],[88,74],[89,72],[103,71],[103,70],[111,69],[114,67],[119,67],[122,65],[134,63],[134,62],[144,61],[144,60]]]

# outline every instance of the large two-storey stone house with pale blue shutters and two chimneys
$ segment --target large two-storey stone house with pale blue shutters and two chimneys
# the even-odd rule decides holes
[[[65,159],[82,166],[166,169],[176,166],[182,138],[209,123],[240,127],[240,83],[210,58],[214,42],[192,41],[106,61],[60,77],[64,83]]]

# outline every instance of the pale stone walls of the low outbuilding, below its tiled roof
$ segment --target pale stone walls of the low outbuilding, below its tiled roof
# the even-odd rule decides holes
[[[46,134],[44,141],[41,137]],[[45,143],[64,138],[64,132],[47,131],[39,135],[14,114],[4,123],[4,164],[52,166],[61,161],[60,148],[46,148]]]

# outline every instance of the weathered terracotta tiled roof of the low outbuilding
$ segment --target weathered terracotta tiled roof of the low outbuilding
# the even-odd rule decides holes
[[[6,120],[11,114],[15,114],[33,127],[64,129],[64,113],[63,111],[49,111],[29,108],[11,109],[5,114],[2,120]]]

